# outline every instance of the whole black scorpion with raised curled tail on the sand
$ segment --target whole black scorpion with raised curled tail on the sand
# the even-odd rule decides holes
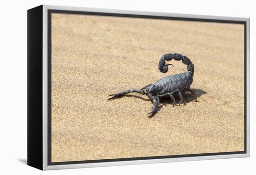
[[[157,106],[160,104],[160,99],[162,99],[163,97],[169,96],[169,98],[173,100],[174,107],[176,100],[175,95],[179,95],[181,99],[179,102],[180,106],[182,101],[184,100],[182,93],[185,91],[189,91],[191,94],[193,94],[195,101],[197,101],[195,92],[190,89],[190,85],[192,84],[194,77],[194,64],[187,56],[182,56],[178,53],[165,54],[161,57],[159,61],[158,69],[160,70],[160,72],[166,73],[168,71],[168,66],[173,66],[172,64],[166,64],[166,61],[171,61],[172,59],[176,61],[182,60],[182,63],[187,65],[188,71],[181,74],[165,76],[156,81],[155,83],[150,83],[141,89],[128,89],[123,92],[110,94],[108,96],[112,97],[110,97],[108,100],[122,97],[128,93],[139,93],[142,95],[147,95],[148,98],[153,102],[152,111],[148,113],[149,117],[157,112]]]

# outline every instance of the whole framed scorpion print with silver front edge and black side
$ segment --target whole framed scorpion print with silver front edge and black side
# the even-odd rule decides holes
[[[249,156],[249,19],[27,12],[28,165]]]

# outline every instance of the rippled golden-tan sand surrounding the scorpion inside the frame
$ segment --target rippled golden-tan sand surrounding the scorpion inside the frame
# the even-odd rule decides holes
[[[244,150],[243,25],[52,15],[52,162]],[[107,100],[195,65],[186,105],[141,94]],[[178,100],[177,100],[178,101]]]

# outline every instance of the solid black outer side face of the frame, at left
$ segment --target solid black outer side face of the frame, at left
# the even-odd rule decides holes
[[[43,6],[27,10],[27,165],[43,169]]]

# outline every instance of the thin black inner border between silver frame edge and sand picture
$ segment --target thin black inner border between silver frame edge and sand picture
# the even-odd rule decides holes
[[[216,153],[200,153],[200,154],[186,154],[186,155],[171,155],[171,156],[148,156],[148,157],[131,157],[131,158],[115,158],[115,159],[99,159],[99,160],[83,160],[83,161],[67,161],[67,162],[51,162],[51,14],[82,14],[82,15],[96,15],[96,16],[111,16],[111,17],[126,17],[126,18],[143,18],[143,19],[169,19],[182,21],[198,21],[198,22],[214,22],[214,23],[231,23],[244,25],[244,151],[234,152],[216,152]],[[98,162],[119,162],[119,161],[136,161],[149,159],[166,159],[179,157],[195,157],[195,156],[220,156],[233,154],[247,153],[247,22],[238,20],[223,20],[223,19],[199,19],[199,18],[183,18],[183,17],[169,17],[169,16],[154,16],[154,15],[137,15],[137,14],[123,14],[123,13],[108,13],[108,12],[84,12],[84,11],[69,11],[69,10],[47,10],[47,81],[48,81],[48,116],[47,116],[47,165],[67,165],[78,163],[98,163]]]

